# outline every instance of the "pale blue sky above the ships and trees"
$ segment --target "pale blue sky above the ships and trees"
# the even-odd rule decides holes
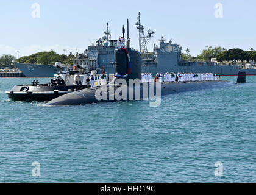
[[[112,38],[121,36],[127,18],[131,46],[138,49],[139,11],[144,27],[155,32],[149,51],[162,35],[180,44],[183,52],[189,48],[191,55],[206,46],[256,49],[255,7],[255,0],[0,0],[0,55],[83,52],[102,37],[107,22]]]

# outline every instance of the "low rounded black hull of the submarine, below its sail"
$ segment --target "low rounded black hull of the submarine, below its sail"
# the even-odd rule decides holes
[[[156,88],[155,83],[148,83],[148,85],[154,85],[154,91]],[[199,90],[210,90],[214,88],[223,88],[223,87],[230,87],[232,85],[235,85],[235,83],[227,82],[227,81],[204,81],[204,82],[168,82],[168,83],[162,83],[161,84],[161,96],[165,96],[168,94],[175,94],[175,93],[183,93],[187,91],[199,91]],[[76,91],[73,93],[65,94],[63,96],[60,96],[59,98],[53,99],[52,101],[48,102],[48,105],[85,105],[85,104],[92,104],[92,103],[98,103],[98,102],[115,102],[120,101],[116,99],[116,90],[119,89],[119,87],[114,87],[114,93],[109,93],[107,90],[109,86],[105,85],[102,87],[96,87],[96,88],[90,88],[85,90]],[[126,99],[129,99],[129,88],[126,87]],[[150,86],[152,87],[152,86]],[[140,85],[140,88],[133,88],[133,99],[135,99],[135,94],[138,90],[140,93],[140,99],[143,99],[143,88],[145,86],[143,84]],[[148,90],[149,87],[146,87]],[[137,90],[136,90],[137,89]],[[98,100],[99,93],[96,93],[97,90],[103,90],[107,91],[107,100]],[[120,90],[120,89],[119,89]],[[118,90],[118,93],[120,92]],[[154,93],[155,94],[155,93]]]

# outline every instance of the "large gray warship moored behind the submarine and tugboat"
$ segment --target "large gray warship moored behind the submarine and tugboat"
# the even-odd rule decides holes
[[[218,73],[222,76],[237,76],[239,71],[246,72],[246,75],[256,75],[256,69],[242,69],[238,65],[218,65],[215,62],[189,62],[182,60],[182,47],[177,43],[169,41],[166,43],[162,36],[159,46],[154,44],[152,52],[148,52],[147,44],[153,37],[152,30],[148,30],[148,35],[144,34],[144,26],[140,21],[140,12],[136,23],[139,32],[140,52],[143,55],[141,61],[141,71],[144,73],[175,72],[175,73]],[[128,21],[127,21],[128,23]],[[127,29],[129,30],[129,29]],[[124,29],[123,29],[124,37]],[[108,29],[104,32],[104,36],[96,41],[96,44],[88,46],[84,54],[90,54],[96,59],[97,68],[104,69],[107,74],[115,73],[115,49],[118,48],[118,40],[112,40]],[[53,77],[58,71],[54,65],[27,65],[16,63],[26,77]]]

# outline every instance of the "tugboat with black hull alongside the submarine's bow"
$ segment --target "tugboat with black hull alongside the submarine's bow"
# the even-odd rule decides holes
[[[104,70],[97,67],[96,59],[86,53],[77,54],[73,64],[73,68],[71,66],[68,71],[62,71],[61,63],[56,62],[55,66],[60,71],[54,74],[51,82],[39,84],[38,80],[34,80],[29,85],[15,85],[5,93],[13,101],[51,101],[63,94],[90,88],[88,79],[91,80],[91,77],[105,76]]]

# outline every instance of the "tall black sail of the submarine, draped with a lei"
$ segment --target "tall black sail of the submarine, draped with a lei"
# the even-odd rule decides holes
[[[115,50],[115,78],[141,80],[141,53],[131,48]],[[115,79],[114,79],[115,80]]]

